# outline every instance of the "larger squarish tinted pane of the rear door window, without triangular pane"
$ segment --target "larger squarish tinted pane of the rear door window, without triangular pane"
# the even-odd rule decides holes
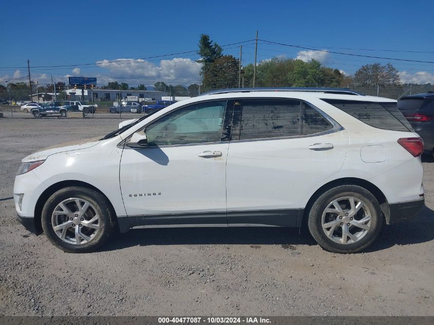
[[[300,135],[301,102],[243,100],[240,140]]]

